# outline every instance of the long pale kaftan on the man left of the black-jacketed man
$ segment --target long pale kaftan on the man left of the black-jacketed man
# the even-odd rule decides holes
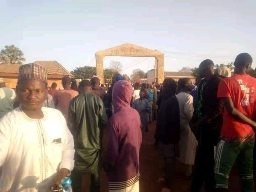
[[[193,116],[193,97],[185,92],[176,95],[180,106],[180,158],[183,164],[194,165],[197,140],[190,129],[190,120]]]

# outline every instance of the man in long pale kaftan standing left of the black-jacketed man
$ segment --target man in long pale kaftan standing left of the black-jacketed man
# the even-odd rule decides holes
[[[193,97],[189,92],[193,89],[192,81],[189,78],[178,80],[180,93],[176,95],[180,106],[180,157],[179,160],[185,165],[184,175],[191,177],[192,166],[196,156],[197,140],[190,128],[190,121],[193,116]]]

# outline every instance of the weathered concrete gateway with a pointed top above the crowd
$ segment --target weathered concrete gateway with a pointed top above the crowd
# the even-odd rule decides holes
[[[101,83],[104,82],[103,59],[105,56],[155,57],[156,80],[159,83],[164,81],[164,53],[126,43],[117,47],[96,52],[96,74]]]

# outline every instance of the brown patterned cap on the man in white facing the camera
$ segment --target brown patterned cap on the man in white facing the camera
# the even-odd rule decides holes
[[[37,79],[47,82],[47,71],[43,66],[35,63],[21,65],[19,68],[18,82],[25,79]]]

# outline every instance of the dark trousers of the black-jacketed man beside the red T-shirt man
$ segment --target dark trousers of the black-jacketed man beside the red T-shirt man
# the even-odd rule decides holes
[[[206,127],[205,127],[206,128]],[[198,142],[196,156],[196,169],[194,171],[191,192],[199,192],[203,186],[206,192],[215,191],[216,181],[214,173],[214,144],[210,140],[210,133],[201,134],[202,139]]]

